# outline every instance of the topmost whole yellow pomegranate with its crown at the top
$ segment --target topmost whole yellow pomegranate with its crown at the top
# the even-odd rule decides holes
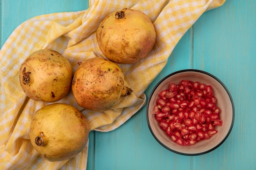
[[[155,28],[141,11],[124,8],[111,13],[99,24],[97,42],[112,62],[131,64],[148,55],[155,44]]]

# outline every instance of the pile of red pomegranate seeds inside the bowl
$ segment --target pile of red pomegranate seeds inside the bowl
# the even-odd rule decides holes
[[[184,79],[159,93],[153,113],[172,141],[189,146],[209,139],[218,132],[214,127],[222,126],[216,102],[211,85]]]

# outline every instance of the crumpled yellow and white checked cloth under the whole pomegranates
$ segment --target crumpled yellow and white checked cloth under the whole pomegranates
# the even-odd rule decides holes
[[[18,26],[0,51],[0,170],[85,170],[88,144],[82,152],[67,161],[49,162],[31,146],[28,137],[31,117],[49,104],[35,102],[22,91],[19,68],[25,58],[39,49],[62,53],[76,71],[78,62],[104,57],[99,50],[95,31],[106,15],[125,7],[144,12],[155,26],[157,40],[153,50],[142,61],[121,64],[125,85],[134,93],[104,113],[78,106],[72,91],[58,102],[82,110],[91,130],[107,132],[124,124],[146,104],[144,91],[165,66],[182,35],[209,9],[225,0],[91,0],[84,11],[52,13],[31,18]]]

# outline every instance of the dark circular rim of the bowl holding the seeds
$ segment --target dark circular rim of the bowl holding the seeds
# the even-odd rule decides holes
[[[171,77],[172,75],[175,75],[177,73],[183,73],[183,72],[199,72],[199,73],[203,73],[203,74],[206,74],[214,79],[216,79],[217,82],[219,82],[222,87],[225,89],[225,91],[227,92],[228,96],[229,96],[229,99],[230,99],[230,102],[231,102],[231,105],[232,105],[232,121],[231,121],[231,125],[229,127],[229,130],[227,132],[227,135],[222,139],[222,141],[220,141],[220,143],[216,146],[214,146],[213,148],[207,150],[207,151],[204,151],[204,152],[200,152],[200,153],[194,153],[194,154],[190,154],[190,153],[182,153],[182,152],[178,152],[176,150],[173,150],[171,148],[168,148],[166,145],[164,145],[158,138],[157,136],[155,135],[155,133],[153,132],[151,126],[150,126],[150,122],[149,122],[149,117],[148,117],[148,110],[149,110],[149,103],[150,103],[150,100],[151,100],[151,97],[152,95],[154,94],[155,90],[157,89],[157,87],[159,86],[159,84],[161,84],[162,82],[164,82],[165,79],[167,79],[168,77]],[[153,137],[157,140],[157,142],[159,144],[161,144],[164,148],[166,148],[167,150],[170,150],[171,152],[174,152],[176,154],[179,154],[179,155],[185,155],[185,156],[197,156],[197,155],[204,155],[206,153],[209,153],[213,150],[215,150],[216,148],[218,148],[220,145],[222,145],[224,143],[224,141],[229,137],[229,134],[231,133],[231,130],[233,128],[233,125],[234,125],[234,121],[235,121],[235,107],[234,107],[234,101],[231,97],[231,94],[229,92],[229,90],[227,89],[227,87],[225,86],[225,84],[223,84],[220,79],[218,79],[216,76],[206,72],[206,71],[202,71],[202,70],[197,70],[197,69],[184,69],[184,70],[180,70],[180,71],[175,71],[167,76],[165,76],[163,79],[161,79],[156,85],[155,87],[153,88],[153,90],[151,91],[149,97],[148,97],[148,102],[147,102],[147,106],[146,106],[146,119],[147,119],[147,124],[148,124],[148,128],[151,132],[151,134],[153,135]]]

